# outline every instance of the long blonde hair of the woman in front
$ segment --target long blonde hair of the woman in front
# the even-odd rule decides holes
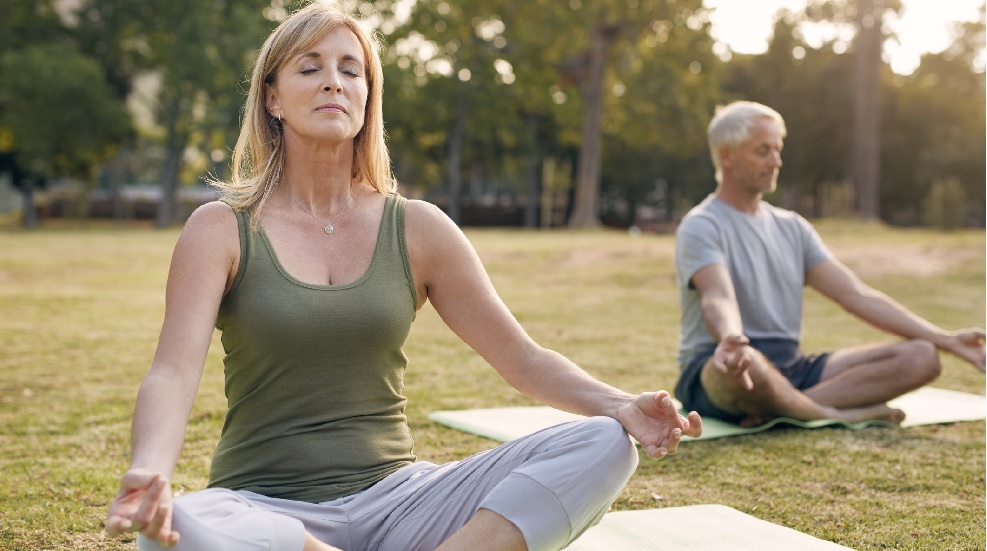
[[[367,105],[363,128],[353,139],[352,177],[381,193],[397,187],[384,138],[384,74],[378,42],[356,18],[326,1],[315,0],[289,15],[264,41],[254,63],[243,125],[233,149],[232,178],[229,182],[210,182],[234,209],[250,211],[254,224],[284,171],[284,129],[267,110],[265,88],[277,84],[278,72],[288,61],[342,26],[360,42],[367,64]]]

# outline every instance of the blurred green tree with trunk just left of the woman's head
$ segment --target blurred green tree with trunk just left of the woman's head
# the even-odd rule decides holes
[[[176,193],[189,162],[187,152],[198,151],[200,159],[208,158],[214,150],[228,151],[235,142],[236,114],[244,99],[241,83],[272,26],[265,17],[265,8],[271,6],[270,0],[142,4],[143,40],[134,47],[148,52],[147,70],[158,74],[161,82],[153,108],[165,152],[159,226],[176,220]],[[200,169],[205,165],[200,161]]]

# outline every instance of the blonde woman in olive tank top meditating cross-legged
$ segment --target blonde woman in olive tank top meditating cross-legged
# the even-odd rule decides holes
[[[701,432],[667,392],[630,395],[535,344],[459,229],[394,192],[381,85],[370,38],[325,4],[265,42],[233,181],[175,247],[111,535],[137,532],[140,549],[558,549],[633,473],[628,433],[660,458]],[[591,418],[416,462],[402,346],[426,301],[511,385]],[[214,326],[229,411],[209,488],[173,501]]]

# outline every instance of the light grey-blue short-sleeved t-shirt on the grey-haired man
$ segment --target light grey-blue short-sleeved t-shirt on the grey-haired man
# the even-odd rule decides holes
[[[716,344],[706,329],[692,276],[726,266],[751,339],[799,342],[805,276],[832,258],[809,222],[761,202],[757,214],[741,212],[710,195],[682,219],[675,233],[675,268],[681,303],[679,365]]]

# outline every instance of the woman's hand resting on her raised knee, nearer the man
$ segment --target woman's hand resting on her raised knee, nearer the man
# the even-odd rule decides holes
[[[699,414],[693,411],[688,419],[679,415],[664,390],[637,396],[617,410],[616,418],[649,456],[658,459],[675,453],[683,434],[695,438],[703,433]]]

